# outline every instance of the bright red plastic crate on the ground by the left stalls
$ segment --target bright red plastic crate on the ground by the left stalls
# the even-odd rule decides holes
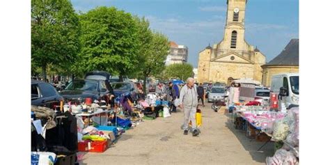
[[[90,144],[90,148],[88,148],[88,143]],[[108,141],[84,141],[78,142],[78,150],[80,152],[104,152],[107,150]]]

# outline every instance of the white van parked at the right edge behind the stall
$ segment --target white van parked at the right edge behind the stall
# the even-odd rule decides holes
[[[278,108],[285,111],[299,106],[299,73],[282,73],[272,76],[272,93],[278,94]],[[283,109],[285,108],[285,109]]]

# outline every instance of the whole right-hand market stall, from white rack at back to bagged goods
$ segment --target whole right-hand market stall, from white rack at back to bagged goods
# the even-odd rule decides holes
[[[236,129],[243,129],[246,137],[274,142],[274,157],[267,157],[267,164],[299,164],[299,107],[278,110],[277,95],[269,100],[253,97],[258,81],[237,80],[230,87],[227,109]]]

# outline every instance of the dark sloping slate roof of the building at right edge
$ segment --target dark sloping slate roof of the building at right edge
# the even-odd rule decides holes
[[[281,54],[266,65],[299,65],[299,39],[291,39]]]

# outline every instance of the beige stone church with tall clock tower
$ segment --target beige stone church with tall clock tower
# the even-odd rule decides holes
[[[198,82],[231,79],[262,80],[261,65],[266,57],[244,39],[246,0],[227,1],[227,20],[223,40],[199,54]]]

